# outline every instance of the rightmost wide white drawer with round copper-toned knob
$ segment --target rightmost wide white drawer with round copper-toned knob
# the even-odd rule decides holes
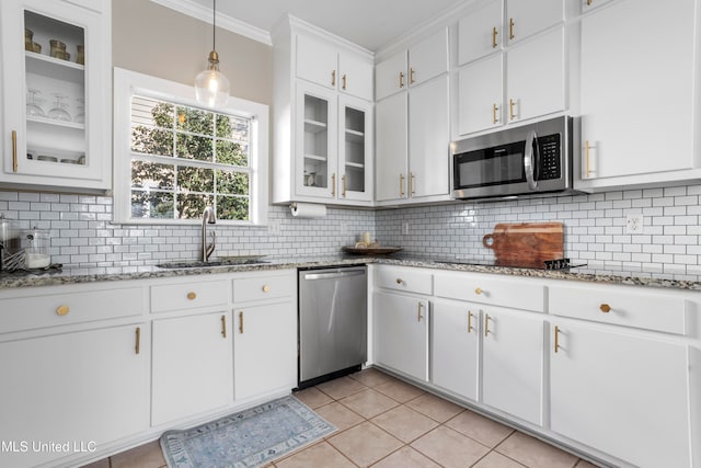
[[[555,285],[550,313],[624,327],[685,334],[686,300],[627,286]]]

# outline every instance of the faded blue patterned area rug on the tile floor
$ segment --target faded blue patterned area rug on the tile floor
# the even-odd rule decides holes
[[[252,468],[336,430],[295,397],[284,397],[184,431],[168,431],[169,468]]]

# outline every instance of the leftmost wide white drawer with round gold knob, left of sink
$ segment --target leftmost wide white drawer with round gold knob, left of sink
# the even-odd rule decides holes
[[[76,290],[46,294],[42,288],[27,288],[28,297],[0,296],[0,333],[57,327],[94,320],[139,316],[143,312],[143,289]],[[57,288],[51,287],[53,292]]]

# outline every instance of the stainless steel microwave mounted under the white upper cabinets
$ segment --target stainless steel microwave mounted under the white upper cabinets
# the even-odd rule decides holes
[[[568,116],[453,141],[452,197],[568,192],[573,144]]]

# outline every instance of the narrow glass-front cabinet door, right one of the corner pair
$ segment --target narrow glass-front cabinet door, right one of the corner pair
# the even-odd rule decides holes
[[[338,99],[338,199],[371,202],[372,109],[363,100]]]

